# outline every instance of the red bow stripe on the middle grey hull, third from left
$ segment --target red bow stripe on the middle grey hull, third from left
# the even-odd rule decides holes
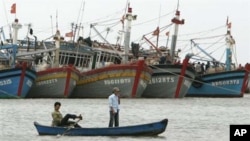
[[[144,60],[139,60],[137,62],[137,69],[136,69],[136,74],[135,74],[135,80],[134,80],[134,84],[133,84],[133,88],[132,88],[132,94],[131,97],[135,97],[136,96],[136,92],[138,89],[138,85],[139,85],[139,80],[140,80],[140,75],[142,73],[142,70],[144,68]]]

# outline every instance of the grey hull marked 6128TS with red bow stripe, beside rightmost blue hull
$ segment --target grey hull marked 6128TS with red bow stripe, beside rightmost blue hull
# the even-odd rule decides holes
[[[151,80],[142,94],[142,97],[146,98],[183,98],[195,77],[195,71],[187,67],[183,81],[178,84],[182,77],[182,65],[153,65],[151,68],[153,70]]]

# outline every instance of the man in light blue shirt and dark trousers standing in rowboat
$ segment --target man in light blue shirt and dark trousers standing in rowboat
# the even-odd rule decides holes
[[[119,104],[120,104],[120,89],[118,87],[113,88],[113,93],[109,96],[109,127],[119,126]]]

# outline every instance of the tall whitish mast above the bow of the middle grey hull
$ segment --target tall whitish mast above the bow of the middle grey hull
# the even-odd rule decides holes
[[[131,34],[131,23],[132,20],[136,20],[137,15],[132,15],[132,8],[128,5],[128,13],[126,14],[126,32],[125,32],[125,38],[124,38],[124,56],[123,61],[126,63],[128,61],[128,55],[129,55],[129,43],[130,43],[130,34]]]

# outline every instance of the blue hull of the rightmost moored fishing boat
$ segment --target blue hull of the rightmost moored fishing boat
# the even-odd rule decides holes
[[[245,70],[205,74],[194,81],[187,97],[242,97]]]

